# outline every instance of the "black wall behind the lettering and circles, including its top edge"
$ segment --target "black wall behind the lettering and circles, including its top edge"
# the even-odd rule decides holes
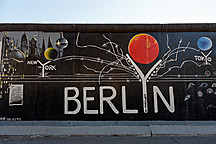
[[[215,24],[173,24],[173,25],[42,25],[42,24],[1,24],[2,54],[5,53],[4,38],[14,39],[18,44],[16,49],[21,50],[21,37],[26,34],[29,40],[33,35],[37,39],[37,53],[22,59],[20,55],[4,55],[1,61],[1,92],[0,116],[4,119],[15,118],[21,120],[214,120],[215,119]],[[7,32],[5,36],[4,32]],[[56,46],[60,33],[68,41],[67,47],[62,49]],[[148,112],[143,110],[143,85],[137,70],[129,62],[126,54],[130,40],[137,34],[148,34],[157,40],[159,54],[149,64],[140,64],[134,60],[144,75],[159,61],[157,75],[150,76],[147,82]],[[207,37],[212,46],[208,50],[201,50],[198,40]],[[11,40],[10,39],[10,40]],[[44,41],[43,41],[44,39]],[[51,46],[49,45],[51,39]],[[44,44],[43,44],[44,43]],[[145,43],[144,43],[145,44]],[[52,60],[44,57],[45,50],[54,48],[56,57]],[[173,52],[166,63],[164,56]],[[114,48],[113,48],[114,47]],[[177,48],[177,50],[175,50]],[[193,48],[193,49],[192,49]],[[8,54],[14,51],[10,45]],[[114,50],[113,50],[114,49]],[[53,49],[50,49],[52,56]],[[55,50],[53,50],[55,55]],[[110,51],[109,51],[110,50]],[[173,50],[173,51],[172,51]],[[17,50],[16,50],[17,51]],[[119,60],[110,52],[119,51]],[[19,53],[20,54],[20,53]],[[171,54],[171,53],[170,53]],[[195,56],[208,55],[211,61],[197,60]],[[11,57],[10,57],[11,56]],[[20,58],[14,61],[13,58]],[[3,61],[4,59],[4,61]],[[201,57],[200,57],[201,59]],[[43,77],[42,63],[50,61]],[[34,64],[28,64],[32,61]],[[119,62],[114,64],[114,62]],[[3,66],[4,65],[4,66]],[[124,68],[126,66],[127,68]],[[123,67],[123,68],[122,68]],[[6,68],[7,71],[4,71]],[[13,71],[12,69],[16,69]],[[23,94],[15,98],[15,105],[10,104],[11,85],[21,86]],[[23,88],[22,88],[23,86]],[[112,103],[119,111],[114,113],[104,102],[104,114],[100,114],[100,87],[111,86],[117,94]],[[138,113],[123,113],[122,86],[126,87],[127,109],[136,109]],[[157,86],[168,104],[170,102],[169,87],[173,87],[175,111],[170,112],[158,96],[158,113],[154,110],[154,91]],[[78,100],[81,109],[77,114],[65,114],[65,87],[76,87],[79,90]],[[88,109],[98,110],[98,114],[84,114],[83,88],[94,87],[88,91]],[[21,90],[21,91],[22,91]],[[15,91],[16,92],[16,91]],[[201,93],[201,94],[200,94]],[[21,96],[22,95],[22,96]],[[70,96],[74,96],[74,91]],[[104,97],[110,97],[110,90],[104,91]],[[18,104],[18,105],[16,105]],[[74,101],[69,102],[69,110],[76,109]]]

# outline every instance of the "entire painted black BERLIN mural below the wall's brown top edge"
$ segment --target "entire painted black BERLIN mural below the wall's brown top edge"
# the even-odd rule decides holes
[[[0,120],[215,120],[216,33],[0,33]]]

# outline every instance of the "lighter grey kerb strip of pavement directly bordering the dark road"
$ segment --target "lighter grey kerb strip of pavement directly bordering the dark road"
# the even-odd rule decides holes
[[[1,136],[203,136],[216,126],[0,126]]]

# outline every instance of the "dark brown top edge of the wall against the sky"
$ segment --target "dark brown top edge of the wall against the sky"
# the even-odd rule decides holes
[[[0,31],[44,32],[216,32],[216,23],[183,24],[56,24],[0,23]]]

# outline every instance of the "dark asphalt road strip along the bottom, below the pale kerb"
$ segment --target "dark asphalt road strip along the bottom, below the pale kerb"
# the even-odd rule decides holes
[[[0,137],[6,144],[211,144],[216,137]]]

